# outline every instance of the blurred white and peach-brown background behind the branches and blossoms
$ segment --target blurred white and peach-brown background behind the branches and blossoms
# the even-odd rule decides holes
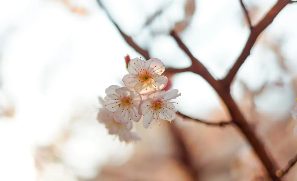
[[[275,0],[245,0],[255,25]],[[105,9],[103,8],[105,7]],[[280,167],[297,153],[290,109],[297,92],[297,4],[260,35],[232,85],[232,96]],[[176,30],[216,78],[241,53],[249,28],[239,0],[1,0],[0,180],[268,180],[232,126],[177,119],[144,129],[126,145],[96,120],[98,96],[122,85],[124,56],[140,57],[119,27],[168,67],[190,60],[169,35]],[[166,70],[165,70],[166,72]],[[177,110],[210,122],[229,120],[198,75],[173,75]],[[185,161],[187,159],[187,165]],[[293,168],[286,180],[296,180]]]

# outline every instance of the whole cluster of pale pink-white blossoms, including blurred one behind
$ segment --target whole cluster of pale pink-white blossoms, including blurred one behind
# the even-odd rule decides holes
[[[104,100],[99,98],[102,108],[97,117],[100,123],[105,124],[109,134],[118,135],[125,142],[140,139],[131,132],[133,122],[142,119],[143,127],[148,128],[156,123],[160,125],[161,119],[170,122],[175,119],[176,102],[171,100],[181,95],[178,90],[162,90],[168,78],[162,75],[165,66],[157,58],[146,62],[132,59],[127,70],[129,74],[122,79],[125,87],[111,85],[105,90]]]

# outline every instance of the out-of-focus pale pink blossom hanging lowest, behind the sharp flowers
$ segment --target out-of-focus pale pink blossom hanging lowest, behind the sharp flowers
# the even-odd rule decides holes
[[[140,137],[136,134],[136,132],[131,132],[133,128],[133,122],[116,122],[113,117],[109,116],[112,114],[111,111],[104,106],[104,100],[99,97],[99,102],[102,108],[99,108],[99,112],[97,114],[97,120],[99,123],[104,124],[106,129],[108,129],[108,133],[110,135],[119,136],[119,140],[125,142],[132,142],[140,140]]]

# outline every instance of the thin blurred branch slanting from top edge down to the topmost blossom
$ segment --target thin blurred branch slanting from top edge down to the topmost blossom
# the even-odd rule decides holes
[[[105,8],[105,6],[103,5],[103,3],[100,0],[97,0],[99,6],[105,11],[108,19],[113,23],[113,25],[116,26],[116,29],[118,29],[118,31],[121,33],[122,37],[124,38],[124,40],[129,44],[129,46],[131,46],[135,51],[137,51],[139,54],[141,54],[145,59],[150,59],[149,56],[149,52],[145,49],[142,49],[140,46],[138,46],[133,39],[126,35],[121,28],[116,24],[116,22],[112,19],[112,17],[110,16],[109,12],[107,11],[107,9]]]

